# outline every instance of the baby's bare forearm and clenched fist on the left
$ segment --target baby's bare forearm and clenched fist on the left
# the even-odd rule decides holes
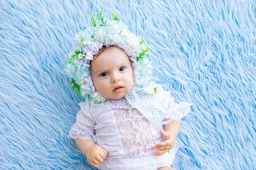
[[[97,167],[99,162],[103,162],[103,159],[108,155],[108,152],[103,147],[95,144],[93,140],[76,139],[75,141],[81,152],[86,156],[89,164],[93,167]]]

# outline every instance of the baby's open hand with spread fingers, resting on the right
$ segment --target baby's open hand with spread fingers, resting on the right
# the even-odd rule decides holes
[[[172,149],[175,141],[175,134],[171,131],[160,130],[160,133],[163,135],[164,142],[160,142],[154,145],[154,148],[159,149],[153,151],[155,156],[161,156],[168,152],[170,149]]]

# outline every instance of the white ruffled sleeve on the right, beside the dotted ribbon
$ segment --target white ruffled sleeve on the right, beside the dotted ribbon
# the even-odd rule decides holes
[[[170,91],[164,91],[161,85],[157,86],[157,93],[154,94],[154,98],[160,102],[166,113],[162,115],[163,124],[168,124],[172,120],[177,120],[186,116],[190,111],[192,104],[188,102],[175,103],[174,97],[171,96]]]

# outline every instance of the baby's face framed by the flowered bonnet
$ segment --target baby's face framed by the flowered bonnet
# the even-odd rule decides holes
[[[102,96],[121,99],[134,85],[131,61],[122,48],[111,45],[90,62],[93,84]]]

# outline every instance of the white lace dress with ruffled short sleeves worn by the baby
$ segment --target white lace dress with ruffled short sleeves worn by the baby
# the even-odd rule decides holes
[[[169,91],[157,85],[154,95],[167,111],[175,108],[176,116],[182,118],[190,111],[190,105],[173,102]],[[89,102],[79,103],[81,110],[76,123],[71,127],[69,138],[91,139],[108,151],[108,156],[97,167],[100,170],[157,170],[170,166],[181,143],[162,156],[154,156],[153,146],[163,142],[163,136],[136,108],[122,99],[108,99],[103,104],[91,106]],[[173,117],[173,115],[171,116]],[[168,117],[166,118],[168,119]]]

